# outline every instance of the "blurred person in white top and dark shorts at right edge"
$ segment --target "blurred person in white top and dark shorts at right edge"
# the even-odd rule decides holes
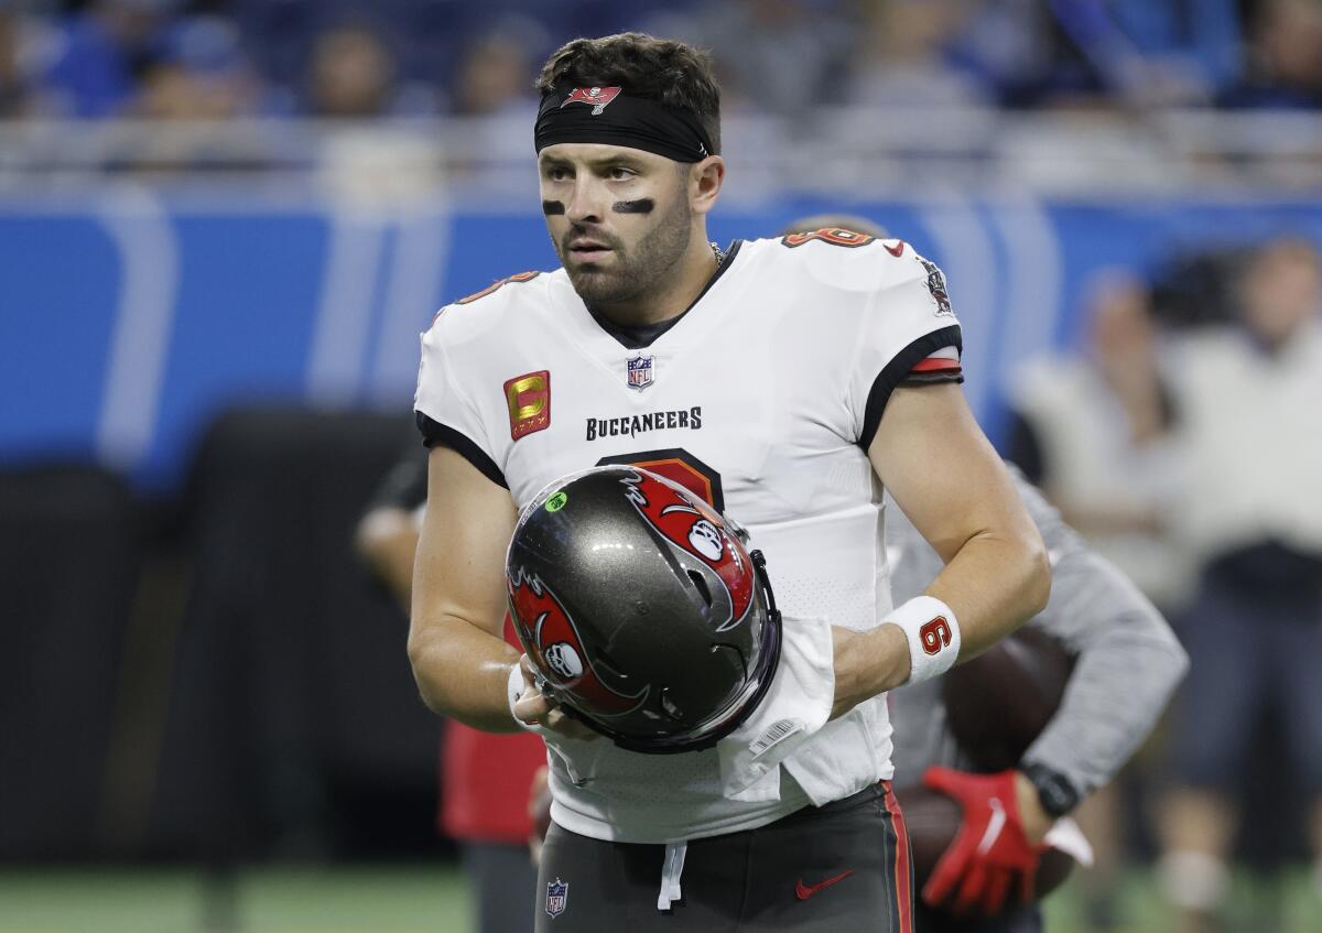
[[[1265,710],[1322,892],[1322,264],[1266,243],[1237,280],[1237,325],[1191,337],[1171,362],[1186,448],[1177,529],[1200,578],[1182,630],[1191,667],[1177,720],[1179,786],[1161,813],[1162,887],[1183,929],[1208,929],[1229,884],[1236,800]],[[1273,778],[1273,798],[1288,781]],[[1261,829],[1255,830],[1261,833]],[[1273,843],[1277,842],[1273,839]]]

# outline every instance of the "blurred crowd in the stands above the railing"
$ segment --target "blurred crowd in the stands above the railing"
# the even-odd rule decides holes
[[[1307,0],[7,0],[0,116],[498,114],[625,28],[714,48],[731,112],[1322,104]]]

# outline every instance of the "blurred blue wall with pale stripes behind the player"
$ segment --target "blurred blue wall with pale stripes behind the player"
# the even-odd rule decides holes
[[[1322,243],[1322,201],[964,198],[723,207],[722,243],[847,210],[940,263],[969,396],[994,435],[1017,361],[1068,342],[1107,267],[1273,233]],[[494,279],[554,268],[541,217],[443,204],[160,197],[0,200],[0,463],[95,460],[168,494],[234,402],[410,404],[416,334]],[[731,348],[734,353],[738,348]]]

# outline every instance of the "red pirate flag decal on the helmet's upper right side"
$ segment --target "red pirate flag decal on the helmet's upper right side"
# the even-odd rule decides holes
[[[652,473],[637,470],[635,476],[624,477],[623,482],[625,496],[652,527],[701,559],[720,578],[730,593],[730,617],[720,621],[717,632],[743,621],[752,605],[754,572],[743,546],[726,529],[724,519],[697,496]]]

